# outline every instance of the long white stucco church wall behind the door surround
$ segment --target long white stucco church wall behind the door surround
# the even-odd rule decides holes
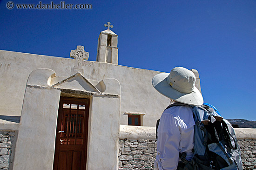
[[[121,56],[120,56],[121,57]],[[73,58],[49,57],[0,50],[0,115],[19,116],[29,74],[39,68],[48,68],[56,76],[71,76]],[[130,68],[110,63],[83,62],[84,77],[96,81],[115,78],[121,84],[120,123],[127,125],[125,112],[146,113],[143,126],[155,126],[169,99],[159,94],[151,85],[158,71]]]

